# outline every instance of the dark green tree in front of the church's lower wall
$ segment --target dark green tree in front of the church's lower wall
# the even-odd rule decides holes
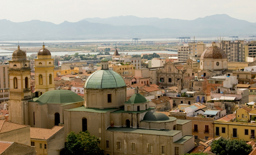
[[[63,150],[64,155],[104,155],[98,146],[100,139],[90,135],[88,131],[78,134],[70,132],[67,134],[67,143]]]

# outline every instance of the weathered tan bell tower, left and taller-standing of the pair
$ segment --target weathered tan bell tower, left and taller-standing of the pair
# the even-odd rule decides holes
[[[9,121],[29,124],[28,101],[31,100],[30,64],[27,55],[18,46],[9,61],[10,97]]]

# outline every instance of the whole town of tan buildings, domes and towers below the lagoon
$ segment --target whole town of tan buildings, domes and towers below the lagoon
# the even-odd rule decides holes
[[[18,46],[0,65],[3,155],[61,155],[80,131],[98,137],[104,155],[215,155],[218,140],[256,153],[256,41],[189,43],[176,55],[114,46],[95,61],[46,47],[29,60]]]

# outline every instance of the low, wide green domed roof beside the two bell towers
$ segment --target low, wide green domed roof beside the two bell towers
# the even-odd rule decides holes
[[[73,91],[56,89],[45,92],[35,101],[41,103],[76,103],[83,100]]]

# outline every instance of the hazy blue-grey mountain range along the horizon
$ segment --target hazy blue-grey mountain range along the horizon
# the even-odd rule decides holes
[[[255,35],[256,23],[216,14],[195,20],[118,16],[85,18],[78,22],[11,22],[0,20],[0,40],[57,40],[90,38],[172,38],[179,36]]]

